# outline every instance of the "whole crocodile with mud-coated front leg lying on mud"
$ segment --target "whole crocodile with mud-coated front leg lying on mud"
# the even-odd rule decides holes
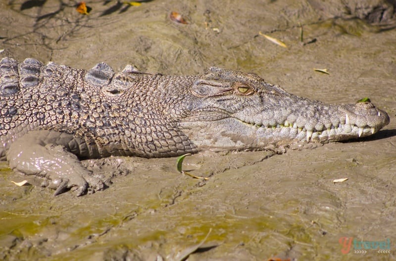
[[[208,68],[161,75],[106,63],[90,70],[27,58],[0,61],[0,159],[77,195],[105,187],[82,159],[259,150],[372,135],[389,123],[369,100],[299,97],[256,74]]]

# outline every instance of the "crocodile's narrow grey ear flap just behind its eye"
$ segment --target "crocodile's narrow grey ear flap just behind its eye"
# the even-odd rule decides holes
[[[191,88],[191,92],[198,97],[220,96],[232,90],[230,82],[210,79],[198,79]]]

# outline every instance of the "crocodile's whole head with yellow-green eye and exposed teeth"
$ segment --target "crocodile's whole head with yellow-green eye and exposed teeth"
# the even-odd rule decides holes
[[[298,97],[254,74],[211,67],[185,94],[179,127],[200,149],[263,149],[343,141],[389,123],[370,101],[329,105]]]

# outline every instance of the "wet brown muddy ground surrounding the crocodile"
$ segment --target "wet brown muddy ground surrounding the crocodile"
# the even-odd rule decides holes
[[[372,138],[283,154],[186,158],[207,181],[179,174],[176,158],[90,160],[112,184],[82,197],[53,197],[2,162],[0,260],[396,259],[395,1],[103,2],[87,1],[82,15],[74,1],[1,0],[0,55],[163,74],[238,69],[328,103],[369,97],[391,123]],[[24,179],[33,185],[11,183]],[[356,240],[347,254],[341,237]],[[358,241],[388,242],[390,253],[354,253]]]

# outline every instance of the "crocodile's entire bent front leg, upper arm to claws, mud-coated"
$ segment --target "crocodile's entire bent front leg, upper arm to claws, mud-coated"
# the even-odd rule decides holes
[[[54,195],[74,189],[78,196],[105,187],[102,180],[86,169],[76,155],[87,155],[88,147],[73,135],[32,131],[13,142],[7,151],[9,166],[15,172],[49,179]]]

